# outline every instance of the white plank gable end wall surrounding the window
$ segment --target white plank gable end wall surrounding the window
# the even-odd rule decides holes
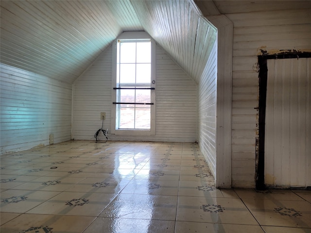
[[[73,138],[95,140],[106,113],[104,128],[111,127],[110,46],[73,84]],[[197,129],[196,83],[156,45],[156,135],[116,136],[109,140],[195,142]]]

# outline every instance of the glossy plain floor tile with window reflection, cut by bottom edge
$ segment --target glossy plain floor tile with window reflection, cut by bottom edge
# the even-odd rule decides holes
[[[98,217],[84,233],[174,233],[175,221]]]

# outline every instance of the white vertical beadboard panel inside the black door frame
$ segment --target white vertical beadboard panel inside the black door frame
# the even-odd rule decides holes
[[[311,58],[267,60],[265,184],[311,186]]]

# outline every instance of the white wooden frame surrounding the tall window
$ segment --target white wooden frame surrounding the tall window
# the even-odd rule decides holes
[[[156,75],[155,75],[155,41],[146,32],[124,32],[118,36],[112,44],[112,79],[111,79],[111,89],[112,89],[112,102],[117,100],[117,90],[113,88],[117,84],[117,43],[118,40],[146,40],[151,41],[151,83],[150,87],[155,88]],[[116,135],[155,135],[155,90],[151,90],[151,102],[154,103],[151,106],[151,116],[150,116],[150,130],[149,129],[116,129],[116,104],[111,105],[111,133]]]

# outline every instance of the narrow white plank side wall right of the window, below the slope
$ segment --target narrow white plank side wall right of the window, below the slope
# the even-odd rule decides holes
[[[198,143],[216,177],[217,40],[198,83]]]

